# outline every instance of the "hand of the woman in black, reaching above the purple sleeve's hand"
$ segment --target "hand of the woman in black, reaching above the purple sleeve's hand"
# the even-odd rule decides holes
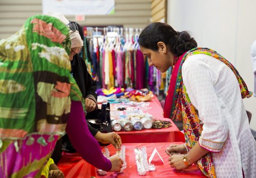
[[[101,133],[97,132],[95,139],[101,143],[111,143],[115,148],[119,149],[122,145],[120,136],[115,132]]]

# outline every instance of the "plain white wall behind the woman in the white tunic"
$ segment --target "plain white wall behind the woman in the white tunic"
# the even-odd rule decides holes
[[[255,0],[168,0],[167,22],[177,31],[188,31],[198,46],[217,50],[240,72],[253,91],[250,45],[256,40]],[[256,98],[244,99],[256,130]]]

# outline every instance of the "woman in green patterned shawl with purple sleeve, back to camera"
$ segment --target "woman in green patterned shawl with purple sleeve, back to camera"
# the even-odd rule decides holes
[[[88,130],[68,55],[71,47],[81,47],[81,39],[59,19],[35,15],[0,41],[1,177],[40,177],[65,131],[95,167],[122,167],[117,156],[108,160],[102,155]]]

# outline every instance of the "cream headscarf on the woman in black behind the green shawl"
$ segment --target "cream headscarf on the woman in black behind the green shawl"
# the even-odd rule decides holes
[[[69,23],[69,20],[63,14],[48,13],[47,15],[60,19],[66,25]],[[69,34],[70,34],[70,39],[71,39],[71,48],[83,46],[83,41],[82,41],[78,31],[73,32],[72,30],[70,30]]]

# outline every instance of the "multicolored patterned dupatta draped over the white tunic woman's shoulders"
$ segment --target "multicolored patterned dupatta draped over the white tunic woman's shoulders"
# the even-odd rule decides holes
[[[187,57],[197,54],[208,55],[225,63],[237,77],[242,98],[250,97],[252,95],[252,93],[248,91],[247,86],[239,75],[237,69],[214,50],[198,47],[191,49],[180,56],[172,69],[172,76],[170,78],[169,88],[166,93],[164,117],[173,120],[183,120],[186,145],[189,149],[191,149],[199,141],[202,133],[202,125],[200,124],[196,111],[193,105],[191,105],[190,99],[186,93],[186,88],[182,80],[181,68]],[[208,177],[216,177],[214,164],[212,162],[210,153],[198,160],[197,166],[204,175]]]

